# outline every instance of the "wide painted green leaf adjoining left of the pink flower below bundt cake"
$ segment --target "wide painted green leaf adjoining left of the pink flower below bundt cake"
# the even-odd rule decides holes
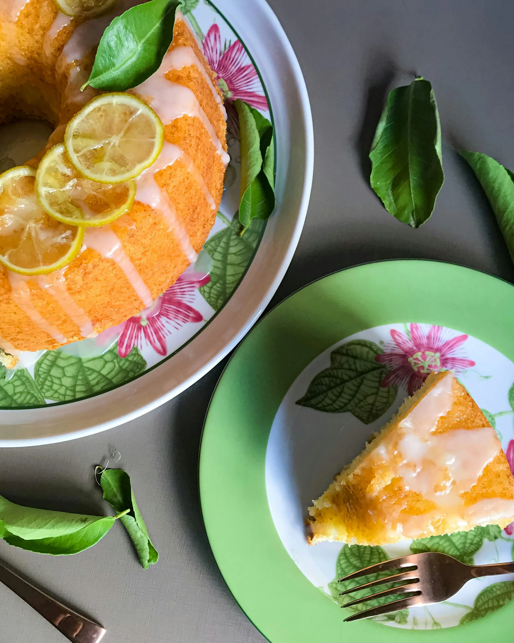
[[[145,368],[137,347],[126,358],[120,358],[116,345],[102,356],[87,359],[51,350],[36,362],[34,377],[44,397],[64,402],[119,386]]]

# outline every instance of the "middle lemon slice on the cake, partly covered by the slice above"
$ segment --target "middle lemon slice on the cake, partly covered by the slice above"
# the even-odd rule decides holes
[[[64,145],[54,145],[36,172],[36,194],[49,215],[71,226],[105,226],[128,212],[136,181],[98,183],[71,165]]]

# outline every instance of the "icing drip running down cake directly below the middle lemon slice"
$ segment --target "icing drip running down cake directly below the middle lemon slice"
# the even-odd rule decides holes
[[[130,285],[132,285],[132,288],[136,291],[139,299],[146,307],[152,305],[154,301],[152,293],[150,293],[141,275],[137,272],[136,266],[130,261],[129,255],[125,252],[121,240],[118,239],[111,226],[87,228],[82,247],[96,250],[103,258],[111,259],[118,264],[129,280]]]

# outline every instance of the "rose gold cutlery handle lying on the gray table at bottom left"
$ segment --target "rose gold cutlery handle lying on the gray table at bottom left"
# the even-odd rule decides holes
[[[98,643],[105,629],[41,592],[0,563],[0,581],[73,643]]]

